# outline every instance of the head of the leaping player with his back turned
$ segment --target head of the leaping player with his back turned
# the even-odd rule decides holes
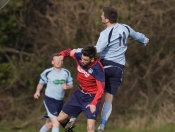
[[[113,24],[113,23],[117,22],[118,13],[112,7],[109,7],[109,6],[108,7],[103,7],[103,12],[102,12],[101,18],[102,18],[102,22],[104,24],[106,24],[108,22]]]

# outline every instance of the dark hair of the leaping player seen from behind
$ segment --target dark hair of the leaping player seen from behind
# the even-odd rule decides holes
[[[110,23],[116,23],[118,18],[117,11],[112,7],[103,7],[105,18],[109,19]]]

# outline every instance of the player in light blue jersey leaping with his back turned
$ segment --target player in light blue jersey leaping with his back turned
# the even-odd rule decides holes
[[[127,39],[131,37],[144,46],[149,42],[144,34],[134,31],[126,24],[117,23],[118,14],[114,8],[104,7],[101,18],[106,29],[100,33],[95,47],[100,52],[100,61],[105,69],[105,95],[98,132],[104,131],[112,112],[113,97],[122,82]]]

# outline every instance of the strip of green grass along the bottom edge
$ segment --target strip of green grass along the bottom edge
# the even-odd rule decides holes
[[[0,132],[38,132],[40,127],[34,128],[29,127],[26,129],[20,129],[20,130],[5,130],[0,129]],[[61,128],[61,132],[64,132]],[[74,132],[86,132],[86,124],[85,123],[79,123],[77,124],[77,127],[74,129]],[[127,128],[118,128],[116,126],[107,126],[105,129],[105,132],[175,132],[175,124],[168,124],[163,125],[158,128],[148,128],[148,129],[127,129]]]

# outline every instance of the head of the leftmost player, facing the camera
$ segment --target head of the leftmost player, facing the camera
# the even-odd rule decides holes
[[[54,53],[51,57],[51,63],[55,68],[61,68],[63,64],[63,59],[60,58],[58,53]]]

